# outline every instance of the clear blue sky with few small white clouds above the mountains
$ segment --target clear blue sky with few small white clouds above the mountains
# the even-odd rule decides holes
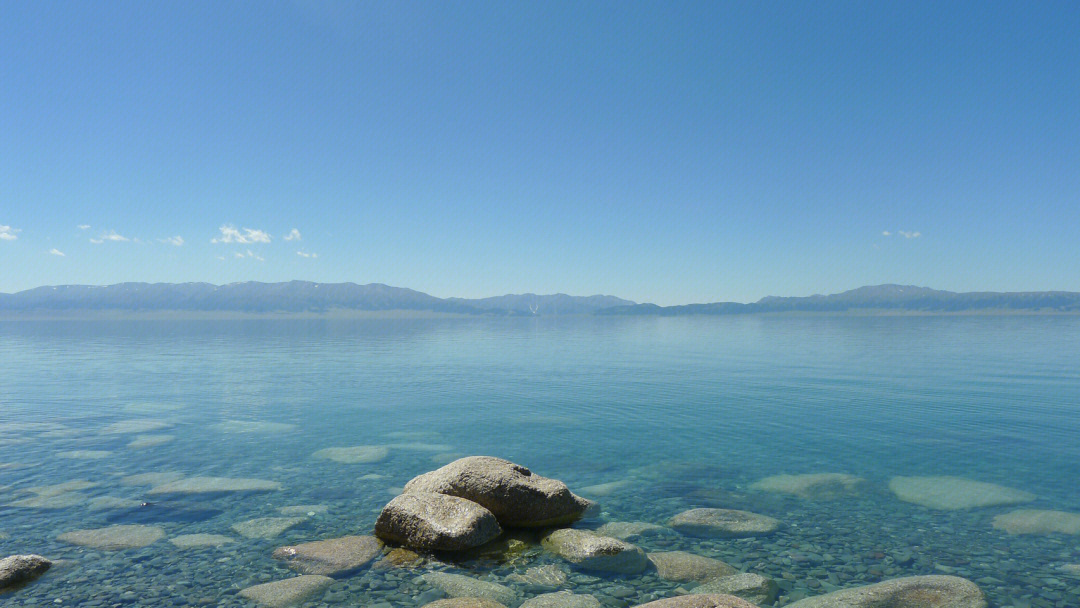
[[[1076,2],[0,0],[0,292],[1080,291],[1077,31]]]

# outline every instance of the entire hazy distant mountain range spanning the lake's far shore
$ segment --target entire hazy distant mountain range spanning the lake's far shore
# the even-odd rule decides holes
[[[769,296],[752,303],[713,302],[661,307],[615,296],[516,294],[492,298],[436,298],[372,283],[120,283],[57,285],[0,294],[0,314],[79,316],[125,313],[336,313],[418,311],[476,315],[662,315],[753,314],[784,312],[1077,312],[1080,293],[954,293],[912,285],[876,285],[828,296]]]

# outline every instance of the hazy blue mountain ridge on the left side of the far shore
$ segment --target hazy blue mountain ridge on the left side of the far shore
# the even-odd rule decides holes
[[[373,283],[119,283],[58,285],[0,294],[3,312],[220,311],[328,312],[341,310],[410,310],[465,314],[571,314],[605,306],[633,305],[610,296],[501,296],[470,300],[436,298],[414,289]],[[535,311],[532,309],[536,309]]]

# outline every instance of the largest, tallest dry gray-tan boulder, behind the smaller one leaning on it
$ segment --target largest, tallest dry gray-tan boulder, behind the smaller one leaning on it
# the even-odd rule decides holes
[[[566,484],[534,474],[509,460],[470,456],[405,484],[405,492],[457,496],[495,514],[508,527],[559,526],[579,519],[592,502]]]

